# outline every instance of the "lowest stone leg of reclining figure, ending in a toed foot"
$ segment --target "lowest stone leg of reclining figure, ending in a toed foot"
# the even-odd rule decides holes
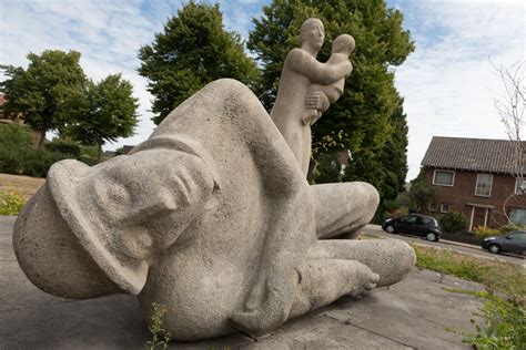
[[[376,287],[378,275],[358,261],[311,259],[302,279],[289,319],[321,308],[350,295],[357,297]]]

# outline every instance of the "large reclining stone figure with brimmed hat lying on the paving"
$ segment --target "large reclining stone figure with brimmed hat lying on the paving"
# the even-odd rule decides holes
[[[174,339],[261,334],[409,271],[399,240],[318,239],[363,226],[377,203],[363,183],[310,186],[257,97],[219,80],[131,154],[54,164],[13,246],[47,292],[138,295],[148,319],[164,305]]]

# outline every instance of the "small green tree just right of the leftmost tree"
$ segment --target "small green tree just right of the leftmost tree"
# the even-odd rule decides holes
[[[87,145],[97,145],[101,159],[102,145],[133,135],[138,123],[138,100],[132,84],[121,74],[108,75],[95,84],[87,83],[85,96],[64,134]]]

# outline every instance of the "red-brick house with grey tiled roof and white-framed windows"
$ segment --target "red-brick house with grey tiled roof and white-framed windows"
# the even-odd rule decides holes
[[[477,226],[498,228],[507,224],[504,213],[515,223],[526,224],[526,195],[520,194],[516,168],[517,151],[507,140],[434,136],[422,161],[425,182],[439,188],[426,214],[439,216],[462,212],[468,231]],[[524,188],[524,187],[523,187]]]

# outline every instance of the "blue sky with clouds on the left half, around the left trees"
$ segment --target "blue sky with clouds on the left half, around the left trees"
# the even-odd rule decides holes
[[[183,1],[170,0],[4,0],[0,11],[0,63],[27,66],[29,52],[75,50],[85,74],[100,81],[121,72],[134,86],[141,121],[136,134],[105,148],[138,144],[152,132],[152,95],[136,73],[138,50],[153,41]],[[213,3],[210,1],[210,3]],[[246,39],[260,0],[221,1],[225,28]],[[0,75],[0,79],[2,76]]]

